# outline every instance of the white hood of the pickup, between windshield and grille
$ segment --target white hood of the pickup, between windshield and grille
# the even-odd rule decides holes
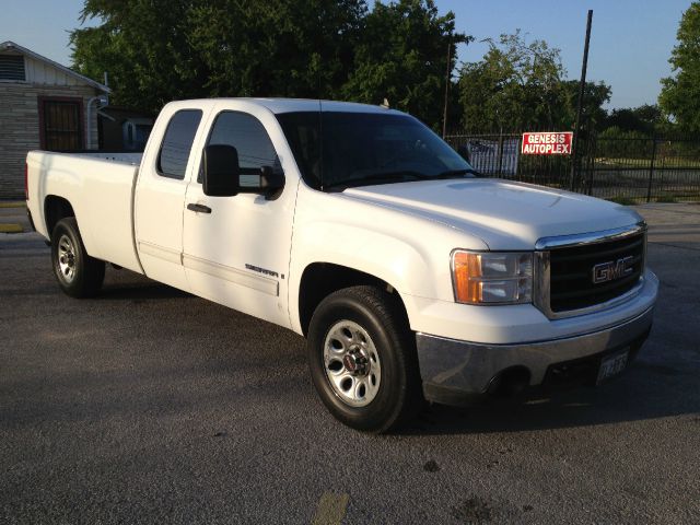
[[[493,178],[364,186],[342,195],[457,229],[481,238],[490,249],[533,249],[542,237],[642,220],[632,209],[605,200]]]

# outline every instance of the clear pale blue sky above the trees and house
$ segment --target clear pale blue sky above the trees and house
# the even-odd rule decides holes
[[[370,2],[372,3],[372,2]],[[691,0],[435,0],[455,13],[456,28],[476,40],[460,46],[459,62],[479,60],[485,38],[520,28],[561,50],[570,79],[579,79],[586,12],[593,10],[587,79],[612,86],[609,107],[654,104],[668,77],[680,15]],[[0,42],[13,40],[70,66],[69,31],[80,26],[82,0],[2,0]],[[93,22],[94,23],[94,22]],[[100,79],[97,79],[100,80]]]

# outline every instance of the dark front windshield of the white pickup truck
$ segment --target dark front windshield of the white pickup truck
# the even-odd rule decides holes
[[[440,137],[408,115],[300,112],[277,118],[304,180],[316,189],[475,174]]]

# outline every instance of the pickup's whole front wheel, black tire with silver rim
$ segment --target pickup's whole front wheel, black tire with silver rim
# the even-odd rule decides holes
[[[347,323],[352,331],[360,327],[360,341],[366,339],[362,330],[370,338],[369,343],[365,341],[354,345],[354,350],[348,351],[361,354],[364,351],[362,345],[365,349],[370,345],[376,351],[375,358],[378,363],[373,364],[371,354],[374,352],[368,350],[366,359],[361,360],[362,374],[353,375],[350,380],[352,385],[347,392],[343,392],[342,381],[348,381],[346,374],[349,374],[350,370],[354,369],[353,372],[357,373],[360,358],[351,359],[347,365],[347,357],[339,354],[336,358],[332,353],[345,352],[343,355],[347,355],[346,350],[336,348],[343,343],[334,338],[335,330],[343,329],[343,323]],[[347,340],[351,341],[351,338],[348,337]],[[352,347],[349,342],[348,349]],[[396,295],[375,287],[352,287],[331,293],[320,302],[311,319],[307,352],[316,392],[330,413],[348,427],[374,433],[387,432],[409,421],[423,406],[416,339]],[[340,365],[335,361],[328,364],[328,359],[340,362]],[[375,370],[373,366],[376,366],[381,377],[378,385],[372,387],[370,381],[372,371]],[[336,380],[338,384],[334,386],[334,374],[335,377],[346,378]],[[368,387],[362,398],[350,399],[357,397],[357,392],[363,390],[364,384]],[[373,388],[371,399],[370,388]],[[365,405],[353,406],[353,402]]]

